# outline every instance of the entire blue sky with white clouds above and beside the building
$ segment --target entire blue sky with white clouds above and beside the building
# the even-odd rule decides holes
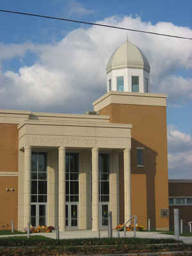
[[[192,38],[192,2],[1,0],[1,10],[100,22]],[[127,35],[168,94],[170,179],[191,179],[192,40],[0,13],[0,108],[84,113],[106,92],[105,67]]]

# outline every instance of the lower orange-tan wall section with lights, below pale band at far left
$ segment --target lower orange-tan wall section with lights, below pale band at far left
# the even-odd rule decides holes
[[[13,188],[14,191],[6,191]],[[12,220],[17,229],[17,177],[0,177],[0,229],[11,229]]]

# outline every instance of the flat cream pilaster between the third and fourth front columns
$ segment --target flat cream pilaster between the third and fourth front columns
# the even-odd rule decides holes
[[[111,153],[109,173],[109,211],[112,211],[113,228],[119,224],[118,195],[118,153]]]

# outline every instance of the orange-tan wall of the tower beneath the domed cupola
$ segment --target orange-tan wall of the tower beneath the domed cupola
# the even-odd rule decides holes
[[[168,218],[161,218],[161,209],[168,209],[168,162],[166,107],[131,104],[109,104],[99,111],[110,115],[110,122],[132,124],[131,172],[132,214],[147,227],[168,228]],[[136,147],[144,147],[145,168],[136,166]],[[122,179],[123,163],[120,163]],[[123,181],[122,181],[123,183]],[[121,187],[120,187],[121,188]],[[124,215],[123,188],[120,189],[120,221]]]

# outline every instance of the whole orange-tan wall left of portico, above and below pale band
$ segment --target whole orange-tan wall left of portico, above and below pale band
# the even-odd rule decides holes
[[[18,172],[17,124],[0,124],[0,172]],[[14,188],[14,191],[6,191]],[[0,229],[17,229],[17,177],[0,177]]]

